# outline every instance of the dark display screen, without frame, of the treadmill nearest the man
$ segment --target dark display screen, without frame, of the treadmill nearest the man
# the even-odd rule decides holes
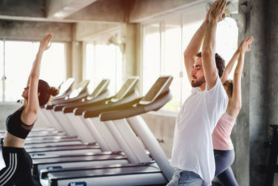
[[[140,100],[140,103],[142,102],[152,102],[154,99],[158,97],[158,95],[163,90],[166,82],[170,79],[170,77],[160,77],[156,80],[156,83],[152,86],[151,89],[147,92],[147,94]]]

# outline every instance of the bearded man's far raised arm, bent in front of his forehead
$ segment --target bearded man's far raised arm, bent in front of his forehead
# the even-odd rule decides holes
[[[204,40],[204,33],[206,32],[206,26],[208,25],[208,16],[210,11],[211,8],[206,13],[206,19],[199,27],[199,29],[196,31],[193,38],[190,40],[188,46],[186,47],[186,50],[183,52],[184,65],[186,66],[186,73],[190,83],[192,80],[190,71],[193,68],[193,64],[196,59],[196,54],[199,53],[199,49],[202,46],[202,42]]]

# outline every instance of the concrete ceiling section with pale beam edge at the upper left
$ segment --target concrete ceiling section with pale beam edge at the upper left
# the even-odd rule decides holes
[[[2,0],[0,20],[38,22],[126,21],[129,0]]]

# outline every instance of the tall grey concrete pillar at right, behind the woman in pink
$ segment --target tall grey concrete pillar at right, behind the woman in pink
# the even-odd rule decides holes
[[[273,0],[272,3],[277,2]],[[239,5],[240,12],[247,15],[247,29],[240,31],[239,41],[254,36],[254,42],[245,55],[243,70],[243,107],[236,126],[236,178],[239,185],[265,185],[265,174],[258,172],[258,166],[266,164],[263,142],[268,139],[268,124],[278,122],[277,15],[275,6],[268,6],[268,1],[240,0]],[[269,36],[272,39],[268,40]],[[273,51],[270,51],[268,46],[272,45]]]

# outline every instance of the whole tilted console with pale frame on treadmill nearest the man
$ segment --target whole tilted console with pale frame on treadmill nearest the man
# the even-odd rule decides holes
[[[163,93],[163,90],[167,88],[167,84],[172,81],[172,76],[162,76],[156,80],[156,83],[152,86],[151,89],[147,92],[147,94],[140,100],[140,104],[149,104],[156,100],[158,95]]]

